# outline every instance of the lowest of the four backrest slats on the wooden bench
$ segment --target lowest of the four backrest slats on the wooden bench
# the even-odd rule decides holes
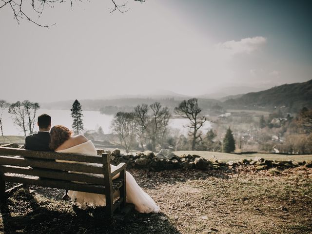
[[[2,178],[5,181],[38,185],[42,187],[68,189],[68,190],[87,192],[87,193],[105,194],[105,186],[103,185],[91,185],[91,184],[75,183],[75,182],[53,180],[53,179],[40,179],[39,177],[19,176],[19,175],[10,174],[10,173],[5,173],[4,175],[2,175]]]

